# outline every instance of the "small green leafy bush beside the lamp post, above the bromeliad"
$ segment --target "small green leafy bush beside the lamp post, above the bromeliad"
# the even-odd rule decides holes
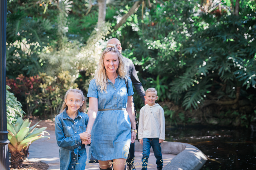
[[[7,112],[7,122],[9,123],[15,123],[19,117],[23,117],[23,114],[25,114],[24,111],[22,111],[21,103],[17,101],[17,98],[14,96],[13,93],[9,92],[11,88],[7,86],[6,90],[6,112]]]

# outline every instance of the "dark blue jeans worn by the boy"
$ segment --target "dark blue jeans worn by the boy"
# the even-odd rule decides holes
[[[147,170],[147,162],[148,162],[148,157],[150,154],[150,148],[152,146],[154,155],[156,157],[156,167],[157,169],[162,169],[163,167],[163,160],[162,160],[162,153],[161,153],[161,147],[159,143],[159,138],[143,138],[143,156],[141,161],[143,162],[142,164],[142,169],[141,170]],[[145,159],[145,160],[144,160]]]

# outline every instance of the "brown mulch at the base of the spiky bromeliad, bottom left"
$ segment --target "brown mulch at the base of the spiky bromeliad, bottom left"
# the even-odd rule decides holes
[[[49,168],[49,165],[44,162],[30,162],[24,161],[23,168],[13,169],[13,170],[46,170]]]

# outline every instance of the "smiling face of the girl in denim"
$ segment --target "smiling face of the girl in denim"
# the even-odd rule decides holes
[[[69,94],[67,95],[67,99],[65,99],[65,103],[68,107],[69,112],[76,113],[78,109],[82,106],[84,101],[82,100],[81,94],[69,92]]]

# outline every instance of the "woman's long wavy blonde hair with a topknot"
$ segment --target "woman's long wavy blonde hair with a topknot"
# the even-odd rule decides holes
[[[102,52],[99,60],[99,64],[97,67],[97,70],[95,72],[95,76],[93,79],[95,79],[95,83],[100,89],[101,92],[105,91],[107,93],[107,85],[108,85],[108,78],[106,74],[106,69],[104,67],[104,56],[108,52],[114,52],[118,56],[118,68],[116,70],[117,74],[121,77],[124,78],[125,81],[127,81],[127,69],[125,67],[124,63],[124,57],[123,55],[117,50],[116,46],[114,44],[108,44],[107,48]],[[90,82],[89,82],[90,83]]]

